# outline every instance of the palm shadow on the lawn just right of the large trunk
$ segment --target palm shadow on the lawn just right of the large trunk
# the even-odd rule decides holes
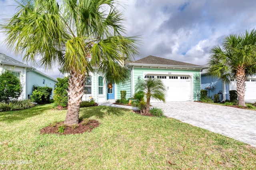
[[[111,106],[83,107],[80,109],[79,119],[90,118],[92,116],[102,118],[105,115],[122,116],[125,114],[126,111],[130,111],[130,109]]]

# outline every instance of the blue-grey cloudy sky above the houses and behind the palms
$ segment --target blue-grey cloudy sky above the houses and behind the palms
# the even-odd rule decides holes
[[[121,0],[127,36],[141,35],[140,59],[154,55],[166,59],[203,65],[209,49],[231,33],[256,28],[256,0]],[[10,18],[15,7],[12,0],[0,0],[0,19]],[[15,59],[1,43],[0,52]],[[57,69],[39,70],[56,78]]]

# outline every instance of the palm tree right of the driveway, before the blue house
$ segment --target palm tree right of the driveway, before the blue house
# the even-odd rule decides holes
[[[219,45],[210,50],[208,74],[219,77],[222,82],[236,80],[238,105],[245,106],[245,80],[256,73],[256,30],[232,34],[224,38],[222,47]]]

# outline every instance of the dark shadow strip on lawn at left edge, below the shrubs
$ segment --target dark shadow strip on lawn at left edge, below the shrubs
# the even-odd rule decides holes
[[[8,123],[11,123],[13,121],[23,120],[32,116],[40,115],[44,113],[44,111],[49,109],[50,107],[47,105],[40,105],[22,110],[4,111],[0,112],[0,121],[6,121]]]

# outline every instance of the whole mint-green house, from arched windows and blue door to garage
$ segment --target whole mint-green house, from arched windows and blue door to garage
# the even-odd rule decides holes
[[[197,94],[201,90],[201,70],[205,68],[204,66],[154,56],[122,64],[130,70],[129,81],[108,86],[103,74],[91,72],[86,79],[82,100],[94,98],[96,102],[114,101],[121,98],[121,90],[126,90],[128,99],[134,95],[134,87],[138,80],[146,78],[159,78],[164,82],[166,102],[197,100]],[[152,102],[158,101],[152,100]]]

